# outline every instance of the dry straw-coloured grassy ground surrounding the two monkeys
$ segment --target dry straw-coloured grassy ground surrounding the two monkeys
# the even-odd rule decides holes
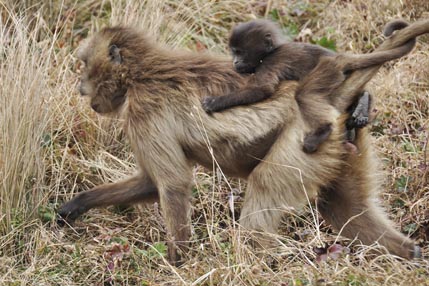
[[[426,0],[384,1],[0,1],[0,285],[429,285],[429,37],[369,84],[370,127],[385,171],[382,201],[424,259],[370,255],[305,211],[288,216],[273,269],[244,243],[237,217],[245,182],[195,169],[192,250],[165,260],[159,207],[91,210],[58,228],[55,209],[81,190],[135,167],[115,118],[76,92],[82,38],[107,24],[144,27],[160,41],[226,53],[235,22],[267,17],[300,41],[369,52],[385,23],[429,17]],[[236,196],[234,212],[227,207]],[[316,262],[334,241],[350,252]]]

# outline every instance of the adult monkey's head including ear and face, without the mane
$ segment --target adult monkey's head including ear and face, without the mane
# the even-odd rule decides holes
[[[131,52],[135,41],[131,29],[105,28],[79,48],[77,56],[85,64],[79,92],[90,97],[96,112],[115,112],[125,102],[132,82],[129,74],[130,62],[135,61]]]

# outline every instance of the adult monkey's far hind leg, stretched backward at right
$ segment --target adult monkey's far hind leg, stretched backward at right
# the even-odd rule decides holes
[[[320,191],[319,210],[341,235],[357,237],[367,245],[378,242],[400,257],[420,257],[420,249],[393,227],[378,203],[376,162],[368,136],[364,129],[358,130],[356,145],[361,153],[347,154],[342,175]]]

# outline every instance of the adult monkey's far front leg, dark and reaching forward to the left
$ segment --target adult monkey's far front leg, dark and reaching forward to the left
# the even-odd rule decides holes
[[[155,201],[158,191],[149,177],[142,174],[126,180],[104,184],[77,194],[58,211],[58,224],[72,222],[95,207],[135,204],[141,201]]]

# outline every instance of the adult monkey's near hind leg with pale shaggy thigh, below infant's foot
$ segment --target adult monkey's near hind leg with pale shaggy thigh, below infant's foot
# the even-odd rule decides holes
[[[298,122],[298,120],[297,120]],[[342,160],[342,130],[334,126],[329,144],[307,156],[299,138],[303,122],[284,130],[270,152],[248,177],[240,224],[250,230],[276,233],[285,214],[293,213],[314,198],[323,182],[337,177]],[[298,131],[297,131],[298,130]],[[325,148],[326,147],[326,148]],[[276,247],[275,239],[258,234],[256,245]]]

